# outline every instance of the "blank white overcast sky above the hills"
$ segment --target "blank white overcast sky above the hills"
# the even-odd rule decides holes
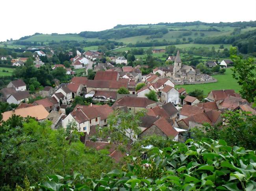
[[[0,41],[117,24],[256,20],[256,0],[0,0]]]

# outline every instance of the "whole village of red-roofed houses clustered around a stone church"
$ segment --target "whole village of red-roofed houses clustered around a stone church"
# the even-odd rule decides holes
[[[153,53],[158,51],[164,49],[152,50]],[[35,67],[44,64],[40,56],[46,54],[43,51],[34,52]],[[84,133],[81,140],[85,146],[100,150],[111,145],[109,156],[118,161],[125,153],[121,155],[113,149],[116,148],[115,144],[98,135],[98,128],[108,128],[108,116],[114,112],[145,111],[139,124],[141,133],[132,136],[132,142],[150,135],[184,142],[186,131],[192,127],[201,127],[205,123],[224,124],[223,114],[226,111],[241,110],[256,115],[252,104],[241,98],[233,89],[220,87],[219,90],[211,91],[207,98],[198,100],[197,97],[188,95],[186,89],[176,88],[175,85],[182,82],[205,83],[213,80],[211,76],[202,74],[195,67],[182,64],[179,51],[176,56],[169,56],[167,59],[172,61],[173,65],[156,67],[148,75],[141,73],[141,68],[147,67],[146,65],[128,66],[126,58],[122,56],[110,57],[106,63],[95,63],[101,56],[102,53],[98,51],[80,53],[77,50],[76,56],[70,58],[74,69],[93,69],[96,73],[93,80],[76,76],[75,71],[63,64],[55,64],[52,69],[64,68],[67,75],[72,76],[70,82],[60,83],[59,79],[54,78],[52,87],[45,86],[39,91],[42,99],[32,103],[28,103],[28,100],[35,95],[30,94],[24,81],[11,81],[7,87],[0,90],[1,101],[19,106],[2,113],[3,120],[6,121],[13,115],[31,116],[39,122],[50,120],[52,129],[61,126],[67,128],[74,122],[78,131]],[[23,66],[24,62],[26,58],[12,59],[12,65],[17,67]],[[220,65],[227,67],[230,62],[223,60]],[[122,66],[114,66],[113,63]],[[217,64],[207,62],[206,65],[214,67]],[[77,97],[91,102],[72,107]]]

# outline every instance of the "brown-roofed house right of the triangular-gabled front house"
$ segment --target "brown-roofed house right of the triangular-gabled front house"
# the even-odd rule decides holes
[[[217,110],[204,110],[202,113],[198,113],[178,121],[177,124],[182,129],[202,127],[205,123],[210,125],[219,124],[223,122],[221,114],[221,111]]]

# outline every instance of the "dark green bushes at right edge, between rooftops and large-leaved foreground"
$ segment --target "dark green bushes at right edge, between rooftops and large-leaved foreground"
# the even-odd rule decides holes
[[[228,111],[224,114],[225,125],[210,126],[205,124],[202,128],[195,127],[190,130],[191,138],[200,140],[202,137],[224,139],[231,146],[256,148],[256,115],[248,115],[241,111]]]

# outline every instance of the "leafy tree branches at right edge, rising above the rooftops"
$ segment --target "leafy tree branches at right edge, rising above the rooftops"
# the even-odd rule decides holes
[[[231,47],[230,58],[234,62],[233,78],[241,85],[240,95],[249,102],[253,102],[256,97],[256,61],[254,58],[242,59],[236,55],[236,52],[237,48]]]

